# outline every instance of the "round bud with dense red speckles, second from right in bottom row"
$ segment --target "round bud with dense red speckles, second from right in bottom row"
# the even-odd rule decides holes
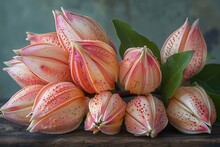
[[[137,96],[126,107],[125,125],[135,136],[156,137],[167,125],[165,107],[151,94]]]

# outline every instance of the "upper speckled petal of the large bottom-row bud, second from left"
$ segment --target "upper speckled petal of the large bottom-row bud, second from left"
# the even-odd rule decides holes
[[[84,97],[83,92],[72,83],[50,83],[37,95],[31,120],[44,117],[82,97]]]

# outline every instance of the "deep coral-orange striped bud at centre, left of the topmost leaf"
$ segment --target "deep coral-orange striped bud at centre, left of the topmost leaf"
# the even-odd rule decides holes
[[[101,41],[76,41],[70,53],[70,69],[74,83],[89,93],[113,90],[118,79],[117,55]]]

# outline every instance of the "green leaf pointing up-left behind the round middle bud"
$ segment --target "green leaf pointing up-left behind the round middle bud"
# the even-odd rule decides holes
[[[154,42],[149,41],[146,37],[138,34],[129,24],[125,22],[122,22],[118,19],[113,19],[112,22],[117,32],[118,38],[121,41],[119,53],[122,59],[124,52],[128,48],[147,46],[160,62],[160,50]]]

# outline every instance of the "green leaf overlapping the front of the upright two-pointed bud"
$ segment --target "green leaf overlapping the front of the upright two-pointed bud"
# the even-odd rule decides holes
[[[172,98],[183,80],[183,71],[191,60],[194,52],[186,51],[170,56],[161,66],[162,95],[164,103]]]

